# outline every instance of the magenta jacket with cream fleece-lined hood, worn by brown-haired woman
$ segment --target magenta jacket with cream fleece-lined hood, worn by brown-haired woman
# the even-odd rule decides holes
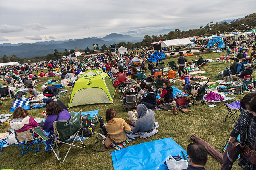
[[[25,118],[20,117],[13,119],[10,122],[10,126],[15,132],[24,132],[28,129],[39,126],[39,124],[32,117],[27,116]]]

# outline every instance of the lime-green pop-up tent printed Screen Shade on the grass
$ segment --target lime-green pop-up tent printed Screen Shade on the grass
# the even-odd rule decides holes
[[[87,70],[75,82],[69,107],[113,103],[116,88],[108,73],[102,70]]]

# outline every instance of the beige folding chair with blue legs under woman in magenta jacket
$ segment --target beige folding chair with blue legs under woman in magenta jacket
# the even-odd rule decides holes
[[[39,127],[39,126],[38,126]],[[22,150],[20,149],[20,154],[24,155],[28,149],[32,150],[33,152],[39,152],[40,143],[42,141],[39,140],[39,137],[35,137],[33,129],[28,129],[24,132],[14,132],[15,138],[17,140],[17,144],[20,149],[20,145],[22,145]],[[31,143],[26,143],[27,141],[30,141]],[[38,143],[38,146],[37,146]],[[42,142],[43,143],[43,142]],[[30,146],[33,146],[35,144],[36,150],[33,150],[30,148]],[[26,150],[25,150],[26,149]],[[25,150],[25,151],[24,151]]]

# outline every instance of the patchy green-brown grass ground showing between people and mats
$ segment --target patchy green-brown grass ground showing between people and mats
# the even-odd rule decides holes
[[[225,54],[222,53],[210,53],[210,54],[203,54],[202,56],[204,59],[216,59],[219,58],[220,55]],[[191,56],[187,57],[188,61],[193,61],[198,59],[198,56]],[[178,58],[172,59],[165,59],[163,60],[165,64],[168,61],[175,61],[177,62]],[[155,64],[155,63],[154,63]],[[147,63],[146,63],[147,65]],[[218,80],[216,78],[217,73],[220,70],[223,70],[225,66],[229,66],[227,64],[215,64],[215,63],[208,63],[208,66],[202,67],[202,71],[207,71],[207,73],[202,73],[200,76],[207,76],[211,77],[210,81]],[[148,74],[149,71],[146,71]],[[199,76],[193,75],[193,76]],[[255,78],[255,74],[253,75]],[[49,78],[39,78],[38,86],[36,89],[42,92],[41,84],[46,82]],[[54,77],[55,80],[60,80],[60,77]],[[3,84],[3,81],[0,81]],[[179,81],[175,82],[173,86],[179,88]],[[63,101],[64,104],[68,104],[70,89],[69,91],[63,95],[60,100]],[[69,111],[78,112],[82,111],[92,111],[99,109],[98,115],[103,116],[104,121],[106,121],[105,111],[108,108],[113,108],[117,112],[118,118],[127,117],[127,112],[123,111],[123,102],[118,99],[119,92],[116,92],[114,97],[114,104],[96,104],[96,105],[86,105],[86,106],[79,106],[79,107],[72,107]],[[240,100],[243,96],[236,96],[235,100]],[[93,96],[91,96],[93,97]],[[231,97],[231,95],[229,95]],[[81,100],[83,96],[81,96]],[[232,101],[228,101],[232,102]],[[147,139],[135,139],[125,147],[136,145],[143,142],[149,142],[153,140],[163,139],[167,137],[171,137],[176,141],[181,147],[185,150],[189,143],[192,143],[192,140],[189,139],[191,135],[197,135],[201,139],[207,141],[210,145],[216,148],[218,151],[221,151],[224,147],[226,141],[229,138],[229,135],[232,131],[234,126],[234,121],[232,119],[223,122],[227,110],[224,105],[224,102],[214,103],[217,105],[216,107],[210,108],[208,105],[212,103],[208,103],[206,105],[201,105],[200,102],[197,102],[196,106],[191,106],[189,109],[191,112],[189,113],[181,113],[178,112],[177,116],[174,116],[172,112],[168,111],[156,111],[155,112],[155,121],[159,122],[158,133],[149,137]],[[1,114],[9,113],[10,107],[13,106],[13,99],[4,100],[3,105],[1,105]],[[188,108],[187,108],[188,109]],[[39,109],[32,109],[29,110],[30,116],[33,118],[35,117],[43,117],[42,111],[45,111],[45,108]],[[12,118],[12,117],[11,117]],[[11,127],[9,125],[0,126],[0,133],[6,132]],[[99,131],[99,123],[95,126],[95,131]],[[95,152],[91,149],[92,144],[94,144],[98,137],[101,138],[99,135],[94,134],[88,140],[85,141],[86,149],[82,150],[79,148],[73,148],[69,152],[67,159],[64,163],[57,163],[57,159],[53,153],[44,152],[44,145],[41,145],[40,152],[34,153],[32,151],[28,151],[24,156],[20,155],[18,146],[12,145],[7,148],[3,148],[2,153],[0,154],[1,164],[0,169],[6,168],[14,168],[14,169],[113,169],[112,159],[110,156],[110,152],[113,149],[109,149],[106,152]],[[81,145],[81,143],[76,142],[77,145]],[[81,145],[82,146],[82,145]],[[104,150],[102,144],[98,144],[95,146],[99,150]],[[68,146],[61,145],[60,148],[60,156],[62,160],[68,150]],[[150,153],[148,153],[150,154]],[[207,170],[215,170],[221,168],[221,163],[215,160],[212,156],[208,154],[209,162],[206,164],[205,169]],[[235,166],[233,169],[241,169],[238,167],[238,160],[234,163]]]

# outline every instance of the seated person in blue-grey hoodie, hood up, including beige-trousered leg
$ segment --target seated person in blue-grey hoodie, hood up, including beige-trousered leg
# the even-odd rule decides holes
[[[143,104],[137,106],[137,111],[128,111],[128,116],[126,120],[135,125],[131,127],[132,132],[146,132],[154,128],[155,112]]]

